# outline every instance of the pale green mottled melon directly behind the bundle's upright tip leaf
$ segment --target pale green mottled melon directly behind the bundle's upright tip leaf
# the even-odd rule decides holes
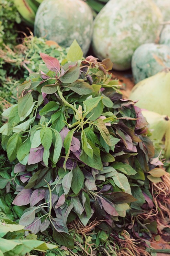
[[[36,13],[34,34],[69,47],[74,39],[84,54],[89,50],[93,14],[81,0],[44,0]]]

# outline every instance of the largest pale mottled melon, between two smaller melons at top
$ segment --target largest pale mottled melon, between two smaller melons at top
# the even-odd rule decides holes
[[[94,20],[94,53],[110,58],[113,69],[129,69],[135,49],[155,41],[161,22],[162,14],[151,0],[110,0]]]

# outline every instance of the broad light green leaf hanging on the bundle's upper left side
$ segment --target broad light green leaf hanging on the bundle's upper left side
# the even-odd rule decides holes
[[[33,104],[33,96],[31,92],[25,94],[18,100],[18,115],[19,117],[25,115]]]

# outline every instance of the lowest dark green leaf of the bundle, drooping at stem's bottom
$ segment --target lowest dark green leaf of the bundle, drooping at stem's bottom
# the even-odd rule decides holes
[[[53,238],[58,244],[74,249],[74,240],[71,235],[64,232],[58,232],[53,228]]]

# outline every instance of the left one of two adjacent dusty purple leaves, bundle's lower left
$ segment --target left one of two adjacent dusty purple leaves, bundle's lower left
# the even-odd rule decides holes
[[[31,194],[31,189],[23,189],[21,192],[18,193],[12,203],[18,206],[27,205],[30,203]]]

